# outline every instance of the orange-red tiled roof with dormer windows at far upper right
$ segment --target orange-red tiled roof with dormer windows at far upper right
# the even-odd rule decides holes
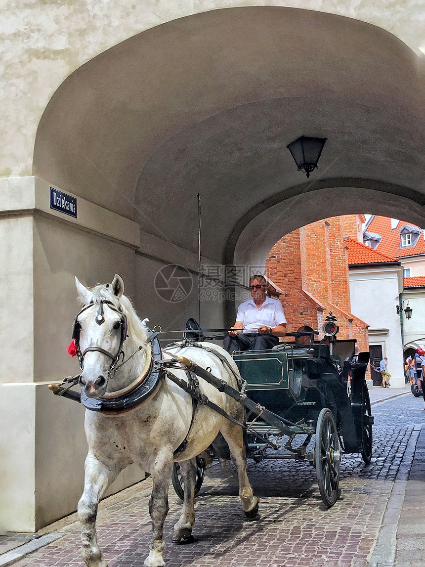
[[[380,217],[379,215],[372,217],[371,221],[367,225],[367,232],[375,232],[382,236],[382,240],[376,247],[376,251],[382,252],[386,256],[393,256],[396,258],[405,258],[406,256],[424,254],[425,240],[423,238],[423,234],[419,235],[418,242],[415,246],[400,248],[400,234],[398,234],[398,231],[403,225],[414,226],[420,229],[420,226],[406,221],[398,221],[396,228],[392,229],[391,219],[389,217]]]

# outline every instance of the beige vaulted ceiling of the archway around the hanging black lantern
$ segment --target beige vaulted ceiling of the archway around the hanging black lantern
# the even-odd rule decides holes
[[[358,20],[283,7],[188,16],[62,83],[33,174],[192,251],[200,193],[202,253],[218,262],[262,259],[335,214],[408,210],[424,226],[423,77],[405,44]],[[308,183],[286,149],[302,134],[328,138]]]

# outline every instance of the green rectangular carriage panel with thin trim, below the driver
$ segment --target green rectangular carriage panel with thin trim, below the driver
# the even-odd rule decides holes
[[[235,354],[247,390],[288,390],[288,356],[279,351]]]

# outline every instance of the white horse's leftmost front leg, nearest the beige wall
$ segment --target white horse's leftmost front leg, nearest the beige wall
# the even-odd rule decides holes
[[[78,502],[78,518],[81,524],[83,560],[88,567],[108,567],[97,545],[97,505],[105,490],[116,478],[117,473],[88,454],[85,465],[84,492]]]

